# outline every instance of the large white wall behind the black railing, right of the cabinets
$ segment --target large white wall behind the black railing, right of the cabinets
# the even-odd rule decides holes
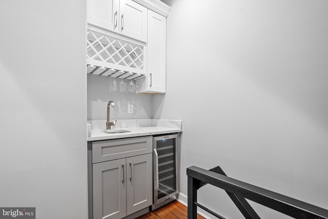
[[[327,208],[328,2],[164,2],[167,93],[153,97],[153,117],[183,120],[181,193],[187,167],[219,165]],[[213,191],[202,188],[200,203],[241,218]]]

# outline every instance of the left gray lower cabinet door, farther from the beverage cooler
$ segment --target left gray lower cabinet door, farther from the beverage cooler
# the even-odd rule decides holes
[[[126,216],[126,159],[93,164],[93,219]]]

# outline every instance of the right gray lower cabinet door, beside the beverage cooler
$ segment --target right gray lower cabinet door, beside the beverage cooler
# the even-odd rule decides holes
[[[127,158],[127,215],[152,205],[153,154]]]

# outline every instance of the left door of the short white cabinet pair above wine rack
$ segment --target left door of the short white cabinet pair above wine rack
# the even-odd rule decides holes
[[[118,0],[88,0],[88,23],[111,31],[119,27]]]

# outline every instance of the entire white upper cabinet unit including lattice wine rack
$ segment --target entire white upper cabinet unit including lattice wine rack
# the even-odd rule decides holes
[[[171,7],[159,0],[87,1],[87,72],[132,79],[136,93],[165,93]]]

